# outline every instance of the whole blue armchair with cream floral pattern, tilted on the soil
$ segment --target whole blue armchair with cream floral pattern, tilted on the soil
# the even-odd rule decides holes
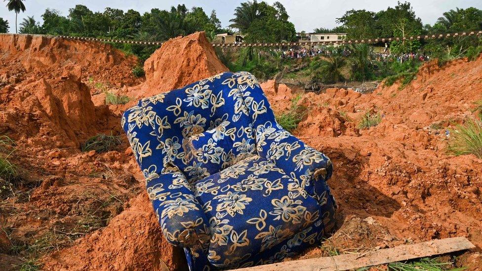
[[[277,124],[249,73],[143,99],[122,126],[162,232],[191,270],[281,261],[334,227],[330,160]]]

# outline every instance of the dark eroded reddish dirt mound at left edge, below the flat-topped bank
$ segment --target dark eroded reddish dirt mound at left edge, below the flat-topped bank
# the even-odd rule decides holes
[[[58,79],[34,78],[0,91],[0,131],[42,149],[78,147],[95,133],[97,119],[89,88],[80,81],[80,67]]]

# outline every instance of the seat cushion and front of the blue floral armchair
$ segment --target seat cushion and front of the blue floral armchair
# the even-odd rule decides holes
[[[197,181],[193,190],[207,211],[208,260],[214,266],[236,266],[322,224],[317,201],[281,168],[257,155]],[[317,234],[296,241],[310,240],[318,240]]]

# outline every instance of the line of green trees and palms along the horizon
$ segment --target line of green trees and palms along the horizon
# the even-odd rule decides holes
[[[16,13],[26,10],[24,0],[6,0],[7,8]],[[123,11],[107,7],[104,11],[92,11],[85,5],[75,5],[66,16],[59,11],[47,8],[41,15],[40,24],[34,17],[28,16],[19,24],[19,32],[24,34],[48,34],[84,37],[105,37],[113,39],[134,39],[146,41],[164,41],[177,36],[185,36],[197,31],[205,31],[208,38],[216,34],[240,31],[246,42],[296,41],[296,30],[289,21],[289,15],[280,2],[273,5],[257,0],[242,2],[234,10],[233,19],[227,28],[221,26],[216,11],[208,15],[201,7],[188,9],[186,5],[172,6],[170,10],[153,8],[144,14],[129,9]],[[444,12],[434,25],[423,25],[416,16],[409,2],[398,2],[394,7],[378,12],[348,10],[336,19],[339,26],[327,29],[317,28],[318,33],[347,33],[347,39],[402,37],[443,32],[460,32],[482,29],[482,10],[475,7],[456,8]],[[15,24],[15,27],[16,24]],[[7,32],[8,22],[0,18],[0,33]],[[17,29],[17,28],[16,28]],[[468,50],[471,39],[465,44],[453,48],[453,52]],[[453,45],[452,41],[429,42],[422,44],[418,40],[393,41],[390,50],[393,53],[405,53],[422,47],[437,53]],[[459,42],[460,43],[460,42]],[[128,53],[147,58],[156,47],[135,45],[115,46]]]

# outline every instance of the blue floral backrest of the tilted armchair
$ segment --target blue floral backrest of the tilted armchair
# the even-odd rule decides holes
[[[130,125],[151,126],[159,145],[150,148],[163,155],[157,160],[164,169],[177,167],[190,183],[255,155],[257,123],[276,123],[256,78],[246,72],[219,74],[142,99],[124,117]],[[134,128],[124,124],[128,137]]]

